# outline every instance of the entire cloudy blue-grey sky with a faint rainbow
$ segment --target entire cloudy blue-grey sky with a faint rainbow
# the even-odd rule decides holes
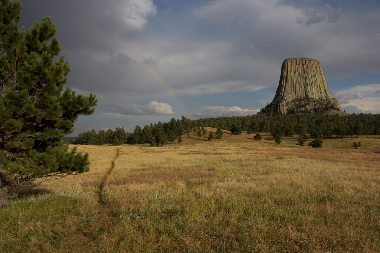
[[[24,0],[22,23],[57,25],[68,83],[97,96],[76,136],[95,129],[253,115],[281,64],[321,63],[347,113],[380,113],[378,0]]]

